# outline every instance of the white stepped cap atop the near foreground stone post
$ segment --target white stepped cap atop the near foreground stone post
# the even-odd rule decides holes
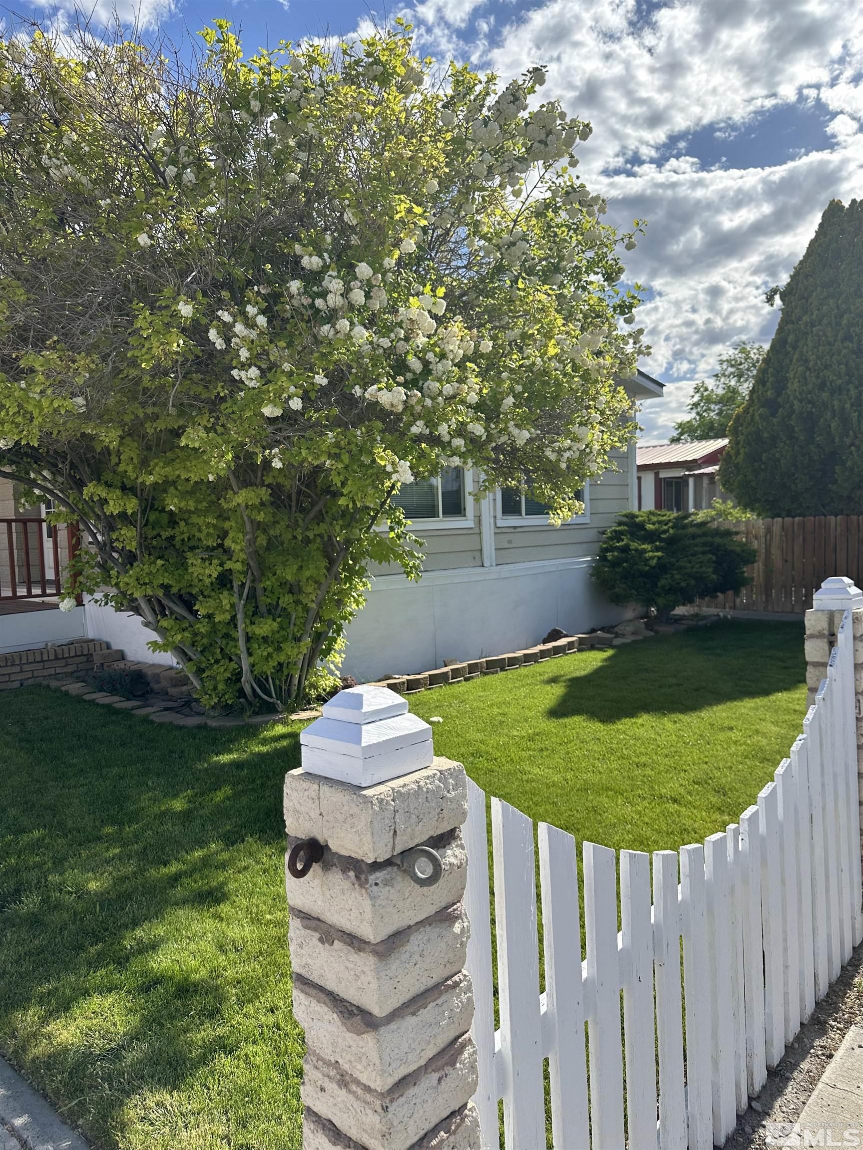
[[[307,774],[373,787],[432,766],[432,728],[389,688],[351,687],[322,710],[299,736]]]

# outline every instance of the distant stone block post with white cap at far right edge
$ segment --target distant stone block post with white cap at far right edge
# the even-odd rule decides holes
[[[854,713],[857,729],[857,793],[863,828],[863,591],[846,576],[833,576],[812,596],[812,610],[805,613],[805,656],[808,703],[827,674],[827,660],[837,641],[843,612],[850,607],[854,628]]]

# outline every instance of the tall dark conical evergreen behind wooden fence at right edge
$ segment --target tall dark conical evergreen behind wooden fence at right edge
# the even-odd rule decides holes
[[[779,294],[720,483],[762,515],[863,514],[863,201],[830,202]]]

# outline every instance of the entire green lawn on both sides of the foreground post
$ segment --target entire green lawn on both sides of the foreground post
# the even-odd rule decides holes
[[[802,627],[718,624],[411,704],[534,818],[675,848],[787,752]],[[299,1150],[280,810],[298,733],[0,696],[0,1052],[102,1150]]]

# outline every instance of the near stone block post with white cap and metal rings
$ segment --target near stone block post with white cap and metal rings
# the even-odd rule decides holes
[[[304,1150],[480,1150],[461,905],[464,767],[405,699],[354,687],[284,782]]]

